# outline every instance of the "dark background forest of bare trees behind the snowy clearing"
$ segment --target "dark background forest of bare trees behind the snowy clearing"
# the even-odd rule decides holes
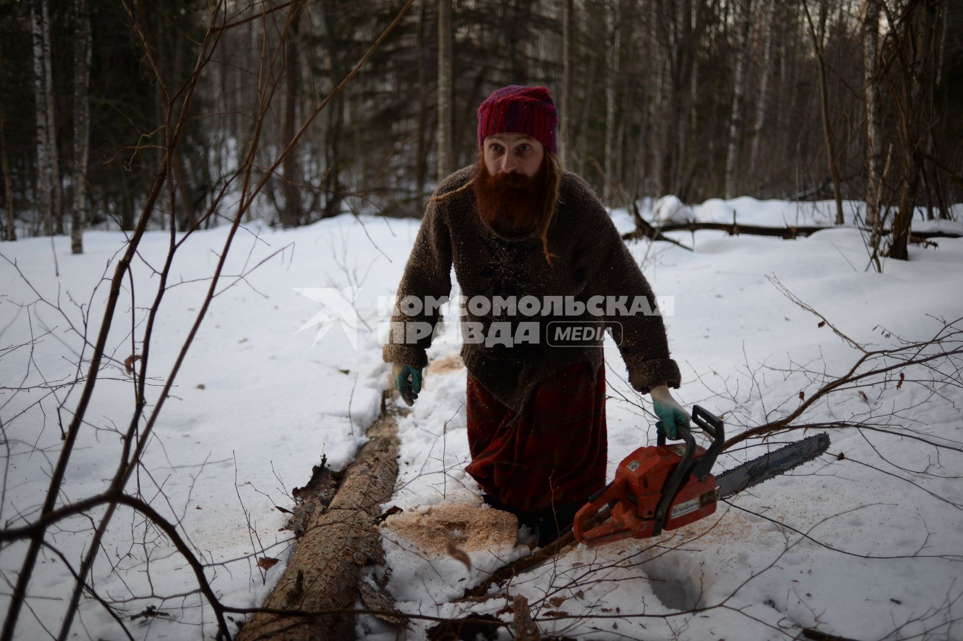
[[[224,224],[248,154],[273,223],[418,217],[437,177],[473,160],[481,100],[512,83],[555,90],[562,163],[606,204],[859,199],[898,228],[960,199],[953,2],[401,9],[4,2],[5,238],[131,231],[160,170],[170,190],[147,228]]]

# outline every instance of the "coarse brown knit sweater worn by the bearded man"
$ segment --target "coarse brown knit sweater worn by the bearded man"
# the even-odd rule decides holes
[[[458,169],[442,181],[435,195],[461,187],[471,179],[474,170],[474,165]],[[548,249],[554,254],[551,266],[542,251],[540,230],[517,237],[496,231],[476,211],[471,188],[443,202],[430,202],[404,268],[397,300],[407,295],[421,300],[427,296],[450,295],[454,263],[461,294],[469,299],[475,295],[489,300],[493,296],[514,295],[521,299],[533,295],[544,301],[545,296],[574,296],[575,300],[586,302],[592,295],[614,295],[628,296],[631,304],[635,296],[643,295],[655,310],[652,289],[615,230],[612,218],[586,181],[565,171],[559,197],[547,237]],[[593,373],[602,364],[602,338],[572,342],[570,346],[548,345],[551,336],[547,335],[546,327],[555,331],[547,324],[551,321],[605,321],[612,326],[616,342],[621,339],[619,351],[634,388],[645,394],[659,381],[665,381],[669,387],[679,387],[679,366],[669,358],[661,316],[616,313],[598,317],[586,310],[581,317],[561,317],[545,315],[545,312],[558,311],[546,305],[536,317],[527,317],[521,312],[495,317],[492,313],[476,316],[469,308],[466,306],[468,311],[463,321],[481,322],[486,331],[493,321],[508,321],[513,328],[518,321],[538,321],[541,326],[537,344],[485,346],[465,341],[461,348],[468,372],[517,412],[524,407],[534,386],[553,373],[576,361],[587,361]],[[439,321],[436,309],[430,310],[431,314],[426,311],[409,316],[396,306],[391,342],[384,346],[382,353],[385,362],[418,368],[428,365],[425,350],[431,344],[431,336],[404,345],[400,331],[405,322],[428,321],[433,326]],[[458,319],[455,317],[452,321]],[[620,323],[621,331],[612,321]]]

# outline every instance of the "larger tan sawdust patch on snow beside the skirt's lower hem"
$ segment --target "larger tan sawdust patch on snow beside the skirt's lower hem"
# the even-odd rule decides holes
[[[385,527],[389,535],[439,554],[450,542],[463,551],[512,548],[518,535],[514,514],[464,503],[439,503],[424,513],[411,509],[388,517]]]

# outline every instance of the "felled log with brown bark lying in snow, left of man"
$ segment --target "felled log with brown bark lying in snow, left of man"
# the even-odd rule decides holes
[[[398,478],[398,427],[382,416],[368,430],[371,439],[345,472],[325,509],[309,513],[307,526],[284,575],[265,608],[336,613],[317,617],[257,613],[241,628],[239,641],[253,639],[353,639],[358,578],[369,561],[383,557],[377,517]]]

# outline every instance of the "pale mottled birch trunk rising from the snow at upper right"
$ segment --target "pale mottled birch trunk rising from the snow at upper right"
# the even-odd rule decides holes
[[[883,132],[880,123],[879,79],[877,54],[879,51],[879,5],[866,0],[863,7],[863,62],[866,83],[866,165],[869,180],[866,185],[866,224],[872,226],[879,217],[879,203],[883,186],[879,180],[882,170]]]

